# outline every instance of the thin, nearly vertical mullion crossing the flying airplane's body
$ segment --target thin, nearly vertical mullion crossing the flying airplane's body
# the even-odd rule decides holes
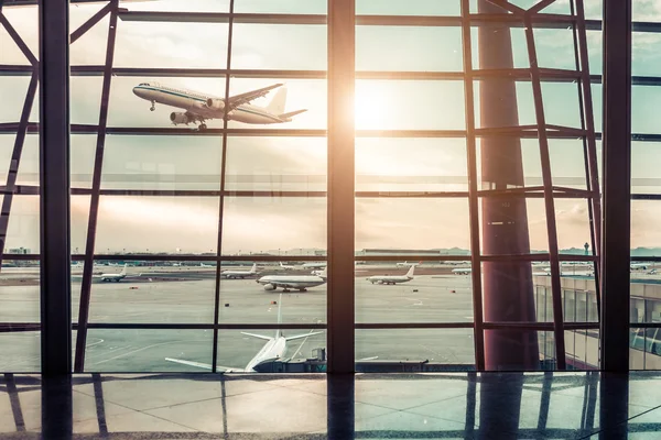
[[[231,67],[231,46],[234,35],[234,4],[229,1],[229,23],[227,30],[227,69]],[[216,249],[216,290],[214,296],[214,346],[212,348],[212,372],[216,373],[218,358],[218,316],[220,315],[220,255],[223,254],[223,217],[225,215],[225,176],[227,174],[227,117],[229,114],[229,79],[225,76],[225,108],[223,114],[223,150],[220,153],[220,196],[218,200],[218,242]]]

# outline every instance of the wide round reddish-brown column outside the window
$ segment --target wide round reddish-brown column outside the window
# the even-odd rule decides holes
[[[502,9],[478,0],[479,13],[505,13]],[[478,29],[479,68],[512,68],[510,29],[501,24]],[[484,79],[479,84],[481,128],[519,124],[514,81]],[[481,189],[523,186],[521,142],[516,136],[483,138]],[[485,255],[529,254],[528,215],[521,197],[485,197],[483,207],[483,253]],[[485,322],[535,321],[532,270],[528,262],[485,262]],[[486,330],[487,370],[538,370],[539,349],[535,331]]]

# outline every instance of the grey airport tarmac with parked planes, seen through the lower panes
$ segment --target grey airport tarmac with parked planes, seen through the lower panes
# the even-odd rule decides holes
[[[181,271],[184,272],[184,271]],[[214,270],[208,271],[210,273]],[[391,271],[394,273],[394,270]],[[399,270],[398,272],[401,272]],[[356,278],[356,321],[388,322],[472,322],[470,277],[466,275],[422,275],[399,285],[372,285]],[[143,278],[144,274],[142,277]],[[153,279],[153,278],[152,278]],[[74,278],[73,320],[77,321],[80,283]],[[95,323],[213,323],[215,280],[131,280],[94,283],[89,321]],[[277,323],[278,293],[266,292],[254,279],[224,279],[220,284],[219,322]],[[0,293],[1,321],[39,321],[39,286],[18,286]],[[228,307],[225,307],[225,305]],[[9,306],[9,307],[7,307]],[[306,293],[282,294],[284,323],[324,323],[326,286]],[[274,330],[249,330],[273,336]],[[310,330],[286,330],[285,336]],[[213,330],[89,329],[86,370],[99,372],[204,371],[174,364],[165,358],[212,363]],[[74,345],[76,332],[74,331]],[[326,346],[326,334],[292,341],[288,356],[306,358]],[[218,364],[243,367],[264,341],[240,330],[218,333]],[[39,370],[39,332],[2,333],[0,369],[31,372]],[[383,329],[356,330],[356,358],[411,360],[445,364],[473,364],[472,329]]]

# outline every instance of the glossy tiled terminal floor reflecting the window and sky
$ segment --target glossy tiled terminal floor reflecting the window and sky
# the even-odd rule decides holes
[[[10,439],[659,439],[661,373],[6,374]]]

